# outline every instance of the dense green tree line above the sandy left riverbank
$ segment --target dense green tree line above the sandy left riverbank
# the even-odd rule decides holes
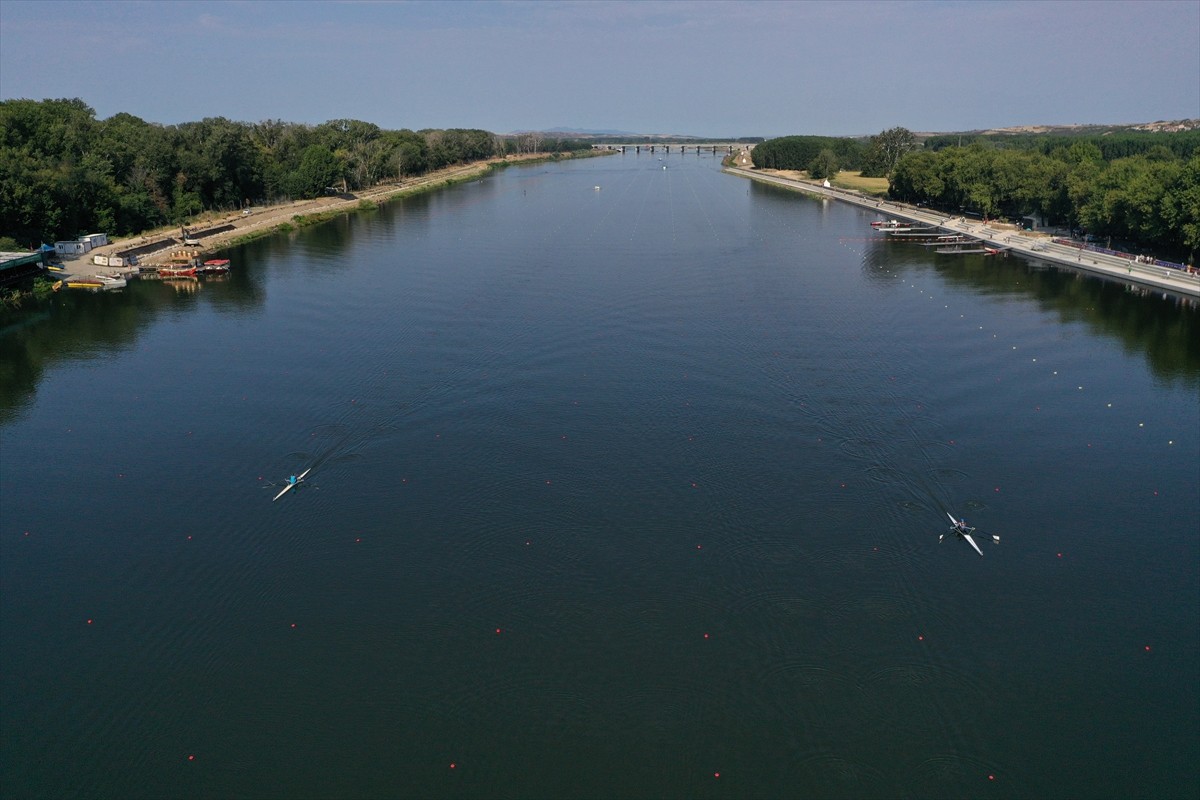
[[[22,245],[128,235],[208,210],[354,191],[451,164],[587,143],[473,128],[388,131],[361,120],[310,126],[208,118],[97,120],[79,98],[0,102],[0,235]]]

